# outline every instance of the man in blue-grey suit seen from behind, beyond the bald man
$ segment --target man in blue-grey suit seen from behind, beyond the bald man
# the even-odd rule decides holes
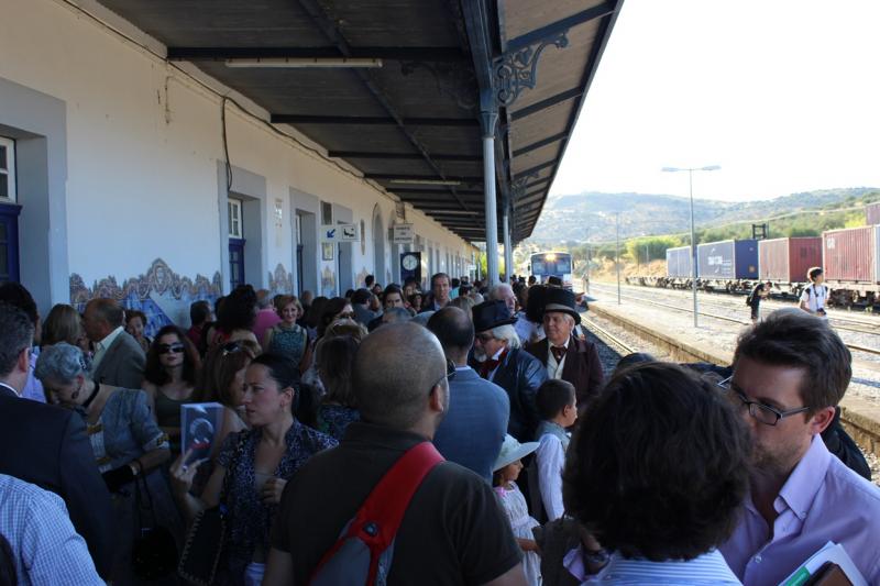
[[[510,400],[502,387],[468,366],[474,324],[464,311],[444,307],[431,316],[428,329],[440,340],[447,361],[455,365],[455,376],[449,379],[449,412],[433,444],[447,460],[492,483],[492,466],[507,433]]]

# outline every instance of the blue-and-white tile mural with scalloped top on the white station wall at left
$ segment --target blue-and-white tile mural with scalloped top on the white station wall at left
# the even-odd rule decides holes
[[[152,338],[169,323],[187,324],[190,303],[199,300],[213,303],[222,295],[221,284],[222,277],[219,272],[215,273],[210,280],[202,275],[196,275],[195,279],[190,279],[176,274],[162,258],[156,258],[145,275],[125,279],[121,286],[111,275],[96,281],[89,288],[82,277],[76,273],[72,274],[70,305],[81,312],[89,299],[116,299],[123,307],[139,309],[146,314],[145,333]]]

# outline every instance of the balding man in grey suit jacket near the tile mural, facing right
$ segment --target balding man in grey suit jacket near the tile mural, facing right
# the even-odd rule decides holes
[[[141,388],[146,356],[141,345],[122,329],[124,311],[112,299],[86,305],[82,325],[95,343],[91,378],[114,387]]]

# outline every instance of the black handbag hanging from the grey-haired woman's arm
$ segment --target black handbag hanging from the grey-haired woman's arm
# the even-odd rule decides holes
[[[172,574],[177,566],[177,543],[172,532],[156,522],[153,496],[143,475],[134,478],[134,507],[138,513],[138,533],[132,542],[132,572],[145,579]],[[152,524],[144,523],[144,511],[152,518]]]

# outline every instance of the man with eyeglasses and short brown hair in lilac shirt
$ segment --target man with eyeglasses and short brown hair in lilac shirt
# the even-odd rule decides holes
[[[745,584],[776,586],[828,541],[880,584],[880,489],[834,457],[822,432],[849,385],[850,354],[824,321],[778,311],[746,331],[721,386],[755,443],[750,496],[721,551]]]

